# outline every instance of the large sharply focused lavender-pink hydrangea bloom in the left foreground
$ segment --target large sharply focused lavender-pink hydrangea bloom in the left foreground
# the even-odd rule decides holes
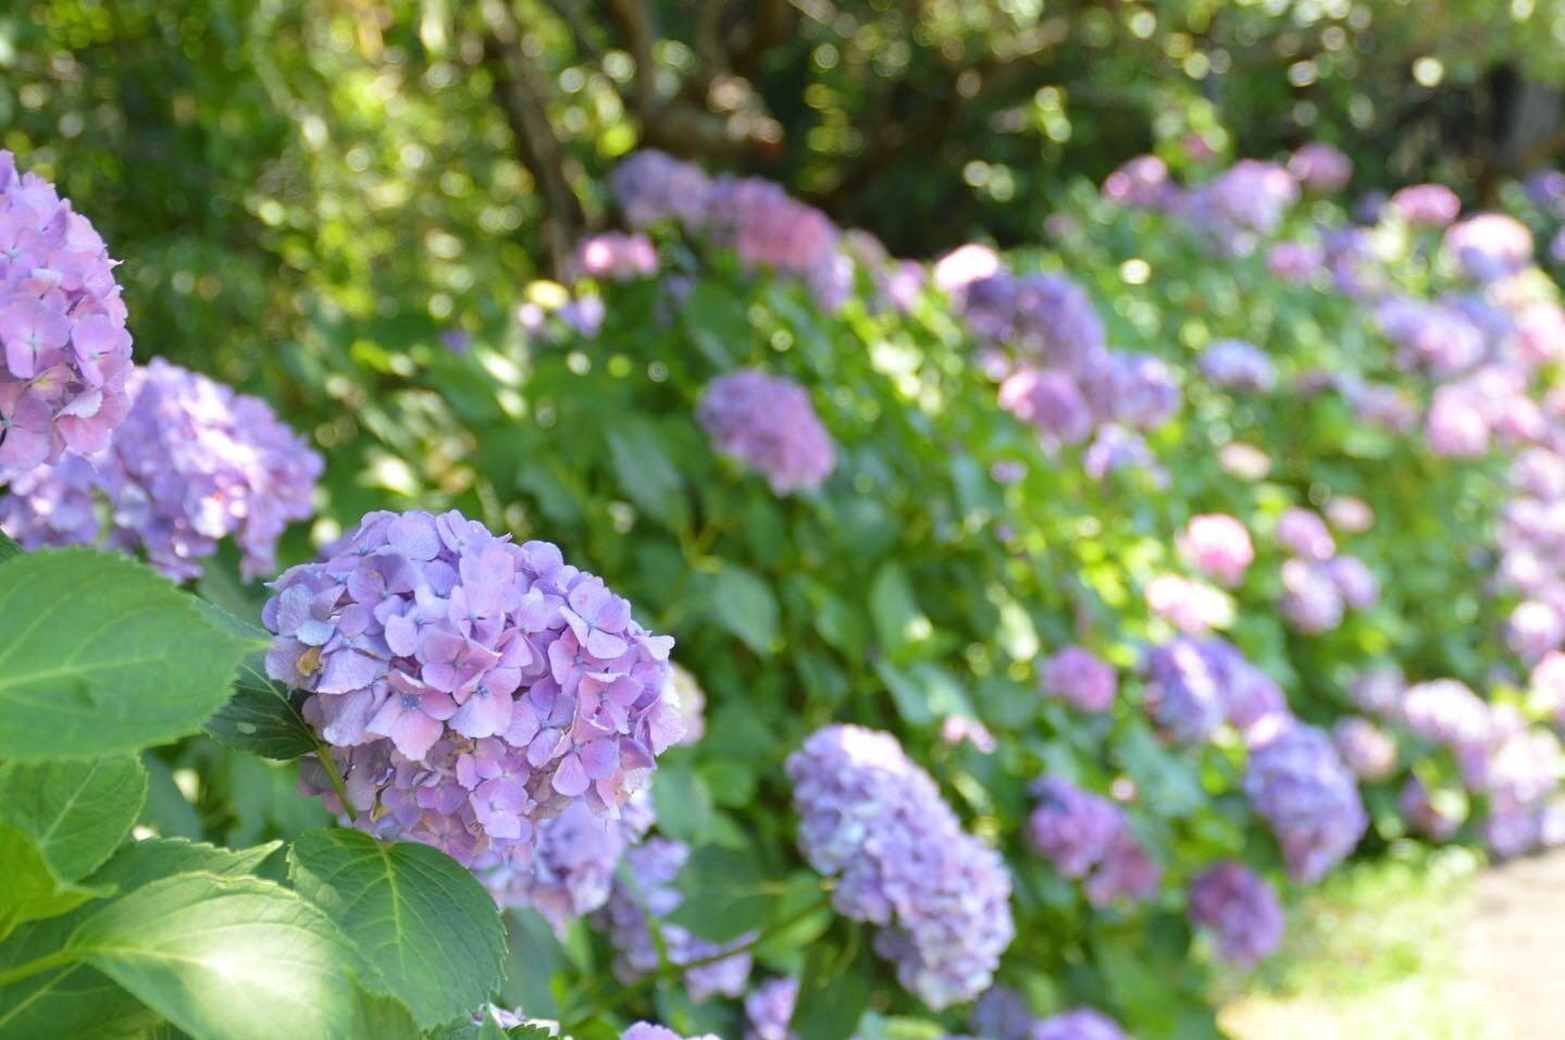
[[[310,694],[346,822],[377,838],[479,872],[526,865],[545,819],[576,802],[618,816],[684,733],[673,641],[549,542],[371,512],[272,589],[266,672]],[[302,778],[344,813],[319,764]]]

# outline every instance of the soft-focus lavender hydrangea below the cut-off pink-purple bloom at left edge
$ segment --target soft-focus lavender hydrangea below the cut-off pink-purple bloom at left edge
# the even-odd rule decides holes
[[[260,398],[163,359],[125,387],[133,404],[108,448],[16,478],[0,526],[27,548],[103,539],[174,580],[200,575],[199,559],[233,536],[247,578],[275,572],[277,539],[313,512],[321,456]]]

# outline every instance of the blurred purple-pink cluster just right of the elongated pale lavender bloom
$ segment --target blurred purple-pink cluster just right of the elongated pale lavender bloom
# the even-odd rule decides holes
[[[1088,902],[1108,907],[1157,896],[1163,871],[1119,807],[1061,777],[1039,778],[1033,797],[1038,803],[1027,821],[1028,844],[1064,877],[1085,879]]]

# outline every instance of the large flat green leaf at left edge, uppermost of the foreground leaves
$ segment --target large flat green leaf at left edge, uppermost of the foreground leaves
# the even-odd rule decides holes
[[[113,755],[192,733],[247,648],[139,564],[28,553],[0,567],[0,757]]]

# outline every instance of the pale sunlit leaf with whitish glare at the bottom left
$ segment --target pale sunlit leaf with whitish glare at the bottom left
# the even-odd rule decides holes
[[[175,874],[105,904],[64,954],[194,1037],[362,1037],[354,944],[313,904],[255,877]]]

